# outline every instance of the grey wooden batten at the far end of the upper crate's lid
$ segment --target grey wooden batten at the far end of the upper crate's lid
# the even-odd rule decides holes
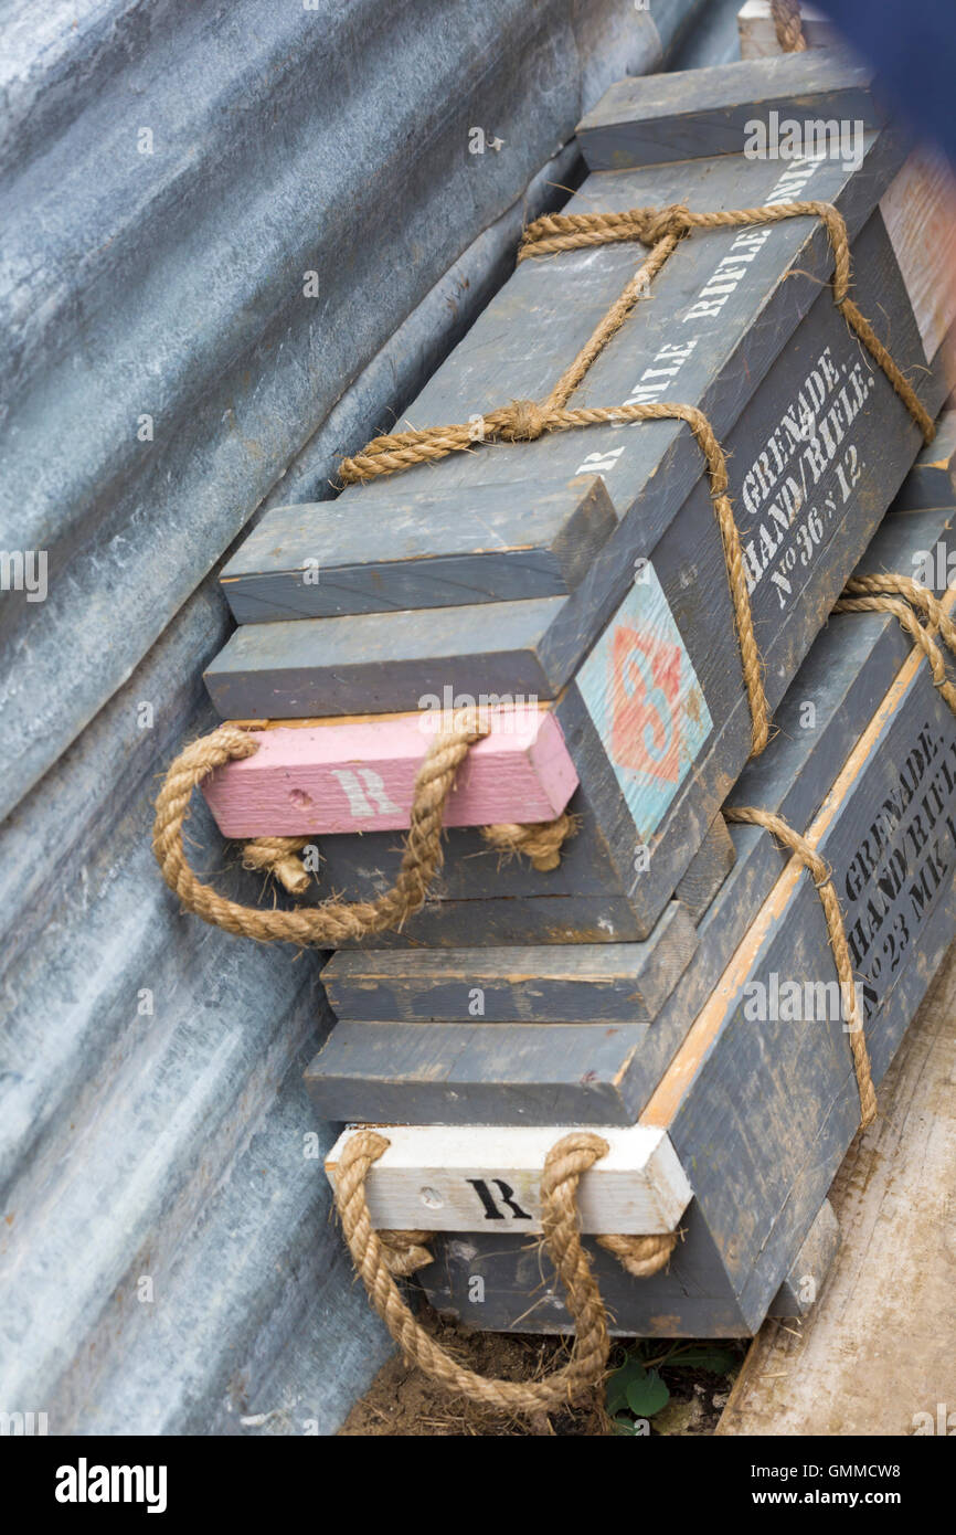
[[[812,48],[707,69],[620,80],[577,126],[592,170],[654,166],[664,160],[740,155],[755,117],[861,121],[879,127],[873,71],[839,49]]]

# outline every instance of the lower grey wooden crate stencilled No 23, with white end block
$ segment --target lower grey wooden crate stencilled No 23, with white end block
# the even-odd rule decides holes
[[[927,496],[904,493],[861,573],[919,574],[927,562],[941,576],[950,569],[951,476],[931,453],[913,474],[924,485],[935,484],[948,505],[913,507]],[[956,591],[938,589],[954,611]],[[798,829],[809,827],[830,863],[879,1084],[953,935],[956,718],[895,617],[838,614],[801,668],[778,725],[766,757],[747,769],[730,798],[776,809]],[[887,814],[893,804],[895,814]],[[784,1016],[753,1016],[761,995],[773,1013],[772,999],[790,995],[781,992],[789,982],[807,996],[807,985],[833,981],[826,923],[810,878],[790,866],[766,832],[735,826],[733,837],[735,869],[652,1022],[641,1019],[628,1035],[625,1022],[476,1025],[402,1018],[376,1024],[362,1018],[339,1022],[307,1073],[325,1113],[336,1104],[338,1114],[354,1117],[454,1122],[465,1102],[473,1125],[485,1122],[480,1134],[488,1147],[506,1124],[522,1121],[548,1127],[555,1139],[569,1124],[598,1128],[637,1121],[666,1133],[694,1193],[671,1228],[680,1225],[683,1237],[669,1269],[632,1280],[592,1248],[615,1329],[623,1334],[752,1332],[767,1311],[799,1309],[803,1282],[807,1276],[822,1280],[833,1248],[833,1231],[827,1226],[821,1236],[818,1213],[859,1117],[842,1019],[796,1021],[786,1010]],[[384,958],[394,956],[365,956],[370,973]],[[531,969],[531,956],[525,962]],[[359,995],[356,964],[358,956],[335,961],[341,979],[333,976],[331,989],[336,995],[339,987],[339,1004]],[[396,1004],[396,995],[411,993],[396,993],[393,978],[387,995],[397,1010],[407,1004]],[[416,1005],[420,1016],[424,998]],[[440,1012],[453,1010],[440,1005]],[[376,1028],[382,1041],[393,1041],[388,1071],[387,1051],[376,1067],[364,1042]],[[617,1059],[606,1050],[614,1028]],[[402,1041],[413,1032],[420,1065],[404,1055]],[[341,1070],[336,1079],[336,1051],[345,1044],[339,1068],[351,1056],[354,1076]],[[414,1134],[411,1125],[404,1139],[410,1188],[422,1187],[414,1179]],[[471,1174],[480,1180],[474,1145],[473,1156]],[[508,1185],[511,1168],[500,1151],[488,1156],[490,1174]],[[522,1214],[502,1207],[496,1188],[490,1185],[493,1216],[490,1205],[473,1199],[471,1214],[453,1233],[440,1226],[447,1234],[433,1239],[436,1262],[422,1273],[425,1288],[440,1309],[474,1326],[560,1329],[566,1317],[548,1262],[537,1242],[520,1236],[531,1230],[526,1211],[520,1200]],[[394,1223],[387,1200],[376,1208],[384,1225]],[[402,1219],[437,1230],[419,1208],[402,1208]],[[494,1220],[493,1234],[486,1219]],[[810,1240],[815,1220],[816,1239]]]

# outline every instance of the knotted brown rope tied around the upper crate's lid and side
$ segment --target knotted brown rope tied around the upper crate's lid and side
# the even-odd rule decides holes
[[[416,464],[433,464],[450,453],[471,453],[476,447],[476,439],[491,444],[534,442],[545,433],[571,431],[580,427],[638,421],[686,422],[704,454],[710,482],[710,499],[720,527],[727,582],[733,602],[733,622],[740,643],[744,688],[750,708],[750,752],[755,757],[763,752],[770,737],[770,715],[764,692],[763,663],[753,631],[753,612],[750,608],[740,531],[727,494],[726,457],[710,422],[697,407],[671,402],[606,405],[582,410],[568,410],[566,407],[568,399],[585,379],[591,364],[600,356],[617,330],[620,330],[637,301],[648,292],[654,276],[691,230],[772,224],[784,218],[803,215],[819,218],[830,238],[833,250],[833,302],[882,368],[893,390],[919,425],[925,441],[931,442],[935,434],[931,418],[921,404],[910,381],[904,376],[870,322],[849,296],[850,244],[842,215],[832,203],[778,203],[773,206],[732,209],[715,213],[692,213],[683,204],[675,203],[664,209],[635,207],[623,213],[548,213],[543,218],[534,220],[525,230],[517,255],[519,262],[529,256],[552,255],[562,250],[577,250],[586,246],[603,246],[629,239],[637,239],[651,247],[648,258],[611,309],[602,316],[585,345],[565,368],[543,402],[517,399],[509,405],[488,411],[480,418],[480,430],[477,433],[474,421],[471,421],[377,436],[361,453],[342,459],[339,465],[342,484],[351,485],[361,480],[377,479],[382,474],[399,474]]]

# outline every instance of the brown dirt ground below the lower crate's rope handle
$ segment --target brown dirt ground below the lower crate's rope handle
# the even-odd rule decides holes
[[[566,1355],[560,1339],[520,1337],[508,1332],[465,1332],[442,1320],[430,1308],[422,1308],[422,1320],[434,1332],[442,1348],[483,1375],[509,1380],[534,1380],[555,1369]],[[721,1343],[743,1363],[749,1340]],[[661,1345],[661,1351],[666,1345]],[[611,1369],[626,1358],[628,1342],[615,1342]],[[740,1368],[740,1366],[738,1366]],[[651,1434],[704,1435],[714,1434],[723,1412],[733,1377],[715,1377],[704,1371],[661,1368],[671,1388],[671,1400],[651,1418]],[[382,1366],[370,1389],[356,1401],[339,1434],[348,1437],[397,1438],[526,1438],[543,1434],[572,1438],[608,1435],[611,1424],[598,1400],[580,1411],[554,1414],[545,1423],[529,1426],[520,1418],[506,1418],[476,1408],[459,1397],[450,1397],[420,1371],[405,1365],[397,1355]]]

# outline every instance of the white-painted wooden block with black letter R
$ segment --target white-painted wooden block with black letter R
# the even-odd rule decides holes
[[[338,1165],[356,1130],[331,1148]],[[542,1230],[545,1157],[572,1127],[384,1125],[388,1150],[371,1167],[365,1194],[377,1230]],[[582,1231],[655,1236],[675,1231],[692,1190],[666,1131],[648,1125],[597,1128],[609,1145],[579,1185]]]

